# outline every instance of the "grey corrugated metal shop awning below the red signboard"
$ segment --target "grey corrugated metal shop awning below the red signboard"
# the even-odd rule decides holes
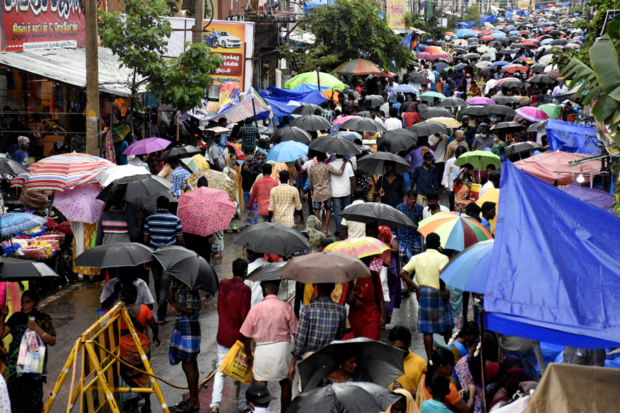
[[[86,87],[85,47],[0,53],[0,65],[37,74],[50,80]],[[130,96],[128,82],[133,71],[119,68],[118,57],[110,49],[99,47],[99,90],[116,96]],[[141,76],[136,76],[140,81]],[[140,92],[145,92],[144,87]]]

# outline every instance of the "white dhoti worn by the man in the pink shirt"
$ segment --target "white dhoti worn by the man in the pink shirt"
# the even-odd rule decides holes
[[[291,342],[256,344],[254,349],[254,380],[280,381],[289,376],[293,354]]]

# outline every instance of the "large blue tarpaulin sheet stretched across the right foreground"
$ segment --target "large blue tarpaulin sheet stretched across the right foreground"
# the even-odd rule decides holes
[[[502,165],[489,330],[577,348],[620,343],[620,218]]]

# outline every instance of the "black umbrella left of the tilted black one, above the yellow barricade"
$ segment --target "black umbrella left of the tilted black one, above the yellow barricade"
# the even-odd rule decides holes
[[[153,250],[138,242],[111,242],[87,249],[77,257],[76,266],[114,268],[136,266],[153,260]]]

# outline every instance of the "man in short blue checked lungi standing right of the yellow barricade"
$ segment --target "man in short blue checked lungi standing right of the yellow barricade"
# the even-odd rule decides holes
[[[174,297],[175,291],[178,298]],[[176,407],[176,412],[198,412],[198,354],[200,353],[200,293],[190,290],[189,287],[176,278],[172,279],[172,291],[168,294],[168,303],[176,308],[176,324],[172,330],[170,341],[170,364],[175,366],[179,362],[183,367],[189,399],[182,401]]]

